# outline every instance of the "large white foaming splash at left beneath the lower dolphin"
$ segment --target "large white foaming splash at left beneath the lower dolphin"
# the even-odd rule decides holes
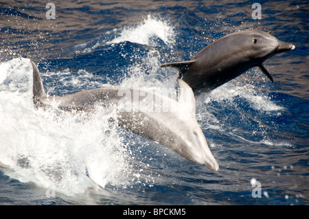
[[[29,59],[2,63],[0,76],[0,162],[10,169],[2,169],[5,174],[67,196],[130,183],[121,131],[104,122],[113,114],[35,110]]]

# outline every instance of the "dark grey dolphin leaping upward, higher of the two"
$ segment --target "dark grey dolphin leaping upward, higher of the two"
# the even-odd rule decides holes
[[[189,61],[165,63],[161,67],[179,69],[179,78],[194,93],[209,92],[240,76],[252,67],[260,67],[273,82],[263,62],[295,45],[279,41],[271,32],[239,31],[214,41]]]

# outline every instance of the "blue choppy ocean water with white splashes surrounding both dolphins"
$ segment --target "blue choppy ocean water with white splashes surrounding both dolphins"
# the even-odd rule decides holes
[[[308,1],[0,3],[0,205],[308,205]],[[190,60],[239,30],[296,48],[196,97],[218,172],[121,128],[35,110],[32,67],[49,95],[99,87],[175,87],[164,62]],[[220,51],[219,51],[220,52]],[[176,91],[176,89],[175,89]]]

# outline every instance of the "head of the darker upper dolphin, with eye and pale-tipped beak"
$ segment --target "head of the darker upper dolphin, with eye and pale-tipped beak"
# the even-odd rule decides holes
[[[238,41],[244,45],[243,51],[248,53],[251,60],[257,60],[259,63],[280,52],[295,49],[295,45],[279,41],[270,32],[243,31],[235,34],[238,35]]]

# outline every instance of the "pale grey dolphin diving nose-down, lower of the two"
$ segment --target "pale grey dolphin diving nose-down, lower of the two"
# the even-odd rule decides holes
[[[196,120],[196,102],[192,89],[178,79],[178,101],[152,91],[110,87],[80,91],[65,96],[49,96],[44,90],[38,67],[33,67],[33,102],[36,108],[57,106],[65,111],[115,108],[117,124],[137,135],[170,148],[185,159],[209,170],[219,165],[209,150],[205,135]],[[106,110],[108,111],[108,110]]]

